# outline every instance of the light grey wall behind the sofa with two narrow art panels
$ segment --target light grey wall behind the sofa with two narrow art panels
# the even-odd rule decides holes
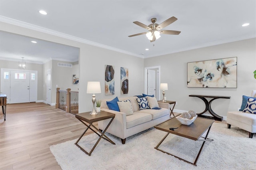
[[[79,113],[92,110],[92,94],[86,93],[88,81],[100,81],[102,93],[96,94],[96,99],[114,98],[120,96],[120,67],[129,69],[129,92],[128,96],[138,95],[144,91],[144,59],[131,55],[111,51],[108,49],[95,47],[92,45],[68,40],[58,36],[53,36],[43,32],[30,30],[0,22],[0,30],[30,36],[50,42],[62,43],[80,48],[79,57]],[[115,67],[115,95],[104,95],[104,73],[105,64]],[[52,66],[53,67],[53,66]],[[52,76],[54,72],[52,72]],[[52,88],[55,86],[52,82]],[[59,86],[59,84],[58,84]],[[126,95],[122,95],[126,96]],[[53,97],[52,97],[53,98]],[[52,99],[53,102],[54,99]]]

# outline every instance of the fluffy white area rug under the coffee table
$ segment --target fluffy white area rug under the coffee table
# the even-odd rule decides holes
[[[154,147],[166,132],[151,128],[126,139],[122,144],[119,138],[106,133],[116,145],[101,139],[91,156],[88,156],[74,143],[76,140],[50,146],[52,154],[63,170],[249,170],[256,169],[256,135],[248,138],[248,132],[221,123],[214,123],[198,158],[197,166],[188,164],[174,156],[156,150]],[[84,136],[78,144],[88,152],[98,136]],[[180,158],[194,162],[202,142],[169,134],[159,149]]]

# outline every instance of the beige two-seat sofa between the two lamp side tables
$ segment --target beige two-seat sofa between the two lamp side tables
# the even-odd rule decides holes
[[[155,109],[144,109],[139,110],[138,102],[136,100],[138,97],[120,97],[119,101],[125,101],[130,99],[132,104],[132,115],[126,116],[126,113],[109,110],[106,101],[111,101],[112,99],[102,99],[101,100],[101,110],[114,113],[115,118],[108,127],[107,131],[122,140],[122,144],[125,144],[126,138],[142,132],[148,128],[154,127],[155,125],[162,123],[170,119],[170,104],[169,103],[158,103],[160,110]],[[104,130],[110,119],[106,119],[98,122],[98,128]]]

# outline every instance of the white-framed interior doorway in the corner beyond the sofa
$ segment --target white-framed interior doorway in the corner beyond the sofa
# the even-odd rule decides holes
[[[160,66],[145,67],[144,74],[144,93],[160,100]]]

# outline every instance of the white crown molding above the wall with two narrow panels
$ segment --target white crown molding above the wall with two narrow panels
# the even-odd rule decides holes
[[[78,37],[71,36],[71,35],[68,35],[68,34],[64,34],[64,33],[61,33],[61,32],[57,32],[57,31],[54,31],[54,30],[50,30],[50,29],[47,29],[47,28],[44,28],[44,27],[40,27],[40,26],[36,26],[36,25],[29,24],[29,23],[26,23],[26,22],[22,22],[22,21],[19,21],[19,20],[15,20],[15,19],[8,18],[8,17],[5,17],[5,16],[0,16],[0,22],[5,22],[5,23],[8,23],[8,24],[20,26],[20,27],[23,27],[23,28],[28,28],[30,30],[39,31],[39,32],[43,32],[43,33],[46,33],[46,34],[51,34],[53,36],[66,38],[68,40],[73,40],[73,41],[76,41],[76,42],[81,42],[81,43],[85,43],[85,44],[89,44],[89,45],[94,45],[96,47],[109,49],[111,51],[117,51],[117,52],[120,52],[120,53],[132,55],[132,56],[135,56],[135,57],[144,58],[144,56],[138,55],[136,53],[125,51],[125,50],[118,49],[118,48],[115,48],[115,47],[110,47],[108,45],[104,45],[104,44],[101,44],[101,43],[92,42],[92,41],[89,41],[89,40],[85,40],[85,39],[82,39],[82,38],[78,38]]]

